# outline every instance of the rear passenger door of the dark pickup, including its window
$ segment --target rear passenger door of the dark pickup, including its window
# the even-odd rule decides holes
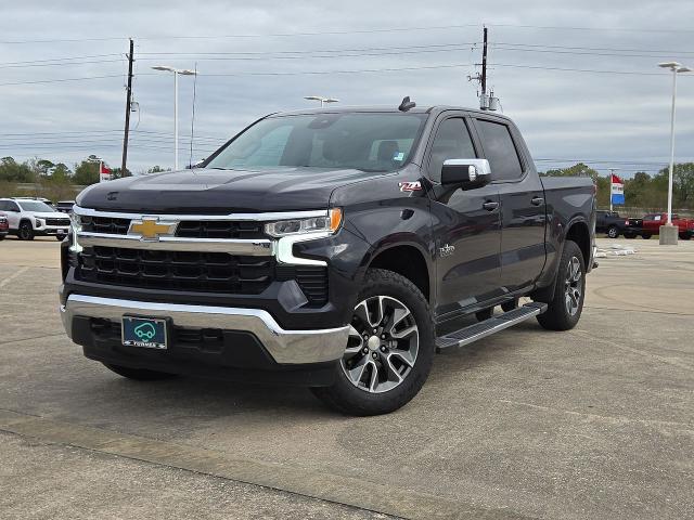
[[[501,198],[501,286],[515,291],[532,285],[544,268],[544,190],[523,138],[509,120],[478,116],[475,127]]]

